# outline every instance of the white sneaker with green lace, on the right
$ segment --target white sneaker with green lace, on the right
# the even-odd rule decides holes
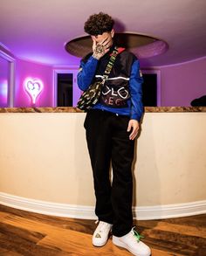
[[[141,235],[134,231],[134,228],[131,232],[128,232],[127,235],[123,237],[113,236],[113,244],[115,246],[120,246],[126,248],[130,253],[133,253],[135,256],[150,256],[151,250],[140,241]]]

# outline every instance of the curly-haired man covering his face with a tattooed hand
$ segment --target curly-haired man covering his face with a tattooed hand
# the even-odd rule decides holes
[[[93,39],[93,52],[81,60],[79,88],[85,91],[103,75],[114,49],[113,19],[100,12],[88,18],[85,31]],[[116,49],[116,48],[115,48]],[[113,232],[113,244],[138,256],[150,249],[134,231],[132,215],[134,138],[143,113],[142,78],[139,61],[131,52],[118,48],[109,79],[100,100],[86,114],[84,126],[93,168],[96,196],[95,213],[99,225],[93,233],[93,246],[104,246]],[[110,163],[113,181],[109,177]]]

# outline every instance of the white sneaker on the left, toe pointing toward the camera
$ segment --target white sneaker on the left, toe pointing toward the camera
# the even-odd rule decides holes
[[[112,224],[100,221],[95,232],[93,233],[93,246],[105,246]]]

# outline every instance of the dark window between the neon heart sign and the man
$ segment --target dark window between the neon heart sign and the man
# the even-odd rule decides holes
[[[72,73],[58,73],[58,107],[72,107],[72,84]]]

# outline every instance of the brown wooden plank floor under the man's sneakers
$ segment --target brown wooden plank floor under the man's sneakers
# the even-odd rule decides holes
[[[137,221],[142,241],[153,256],[206,256],[206,215]],[[114,246],[92,245],[93,220],[56,218],[0,205],[0,255],[6,256],[131,256]]]

